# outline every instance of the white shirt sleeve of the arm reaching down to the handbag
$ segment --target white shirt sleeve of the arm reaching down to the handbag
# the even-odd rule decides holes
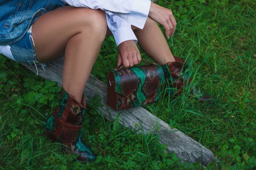
[[[117,46],[127,40],[134,40],[137,43],[138,40],[131,29],[131,24],[109,11],[106,11],[106,17],[108,28],[112,32]]]

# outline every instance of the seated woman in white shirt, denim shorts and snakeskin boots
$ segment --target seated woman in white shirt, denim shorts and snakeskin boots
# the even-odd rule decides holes
[[[178,76],[184,61],[173,57],[157,26],[164,26],[169,39],[175,18],[171,10],[150,0],[2,0],[0,10],[0,53],[29,63],[65,56],[61,99],[47,120],[45,134],[66,145],[65,150],[78,155],[79,161],[96,159],[81,142],[83,91],[106,36],[113,34],[116,40],[118,65],[128,68],[140,63],[138,41],[163,66],[170,84],[175,80],[172,86],[183,88]]]

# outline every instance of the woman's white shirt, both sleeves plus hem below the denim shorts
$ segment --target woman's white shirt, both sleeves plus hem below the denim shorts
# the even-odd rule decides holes
[[[148,17],[151,0],[62,0],[70,6],[101,9],[105,11],[108,28],[113,33],[116,45],[137,38],[131,25],[143,29]],[[0,45],[0,54],[13,59],[9,45]]]

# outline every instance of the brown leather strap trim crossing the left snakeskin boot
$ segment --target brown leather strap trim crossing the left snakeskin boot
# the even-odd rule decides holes
[[[58,122],[58,128],[54,133],[56,139],[58,139],[58,137],[61,133],[62,127],[65,127],[69,130],[80,130],[81,129],[81,126],[72,126],[72,125],[66,125],[65,124],[65,121],[67,119],[67,115],[70,111],[70,107],[71,107],[72,102],[73,102],[73,99],[74,99],[74,96],[69,94],[68,99],[67,99],[67,105],[66,105],[65,110],[64,110],[64,112],[61,116],[61,119],[58,119],[58,116],[56,115],[55,110],[52,112],[52,115],[53,115],[54,119]]]

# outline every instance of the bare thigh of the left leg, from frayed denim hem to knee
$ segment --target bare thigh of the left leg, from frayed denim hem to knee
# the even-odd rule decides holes
[[[63,57],[71,37],[97,24],[107,24],[104,11],[65,6],[42,14],[32,26],[38,61]]]

